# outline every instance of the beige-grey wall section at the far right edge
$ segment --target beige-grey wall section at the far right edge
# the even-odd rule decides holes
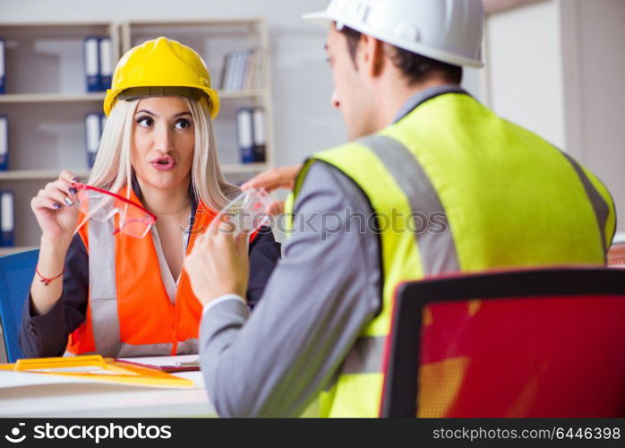
[[[567,143],[610,189],[625,232],[625,1],[561,0]],[[625,235],[623,236],[625,237]]]

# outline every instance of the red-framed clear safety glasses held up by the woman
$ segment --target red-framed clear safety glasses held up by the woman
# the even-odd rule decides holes
[[[148,234],[157,220],[150,211],[119,194],[81,183],[73,183],[73,187],[78,190],[76,205],[85,215],[85,219],[78,225],[74,234],[88,220],[99,222],[113,220],[115,223],[115,215],[119,215],[118,222],[114,224],[116,228],[113,235],[123,233],[130,237],[142,238]]]

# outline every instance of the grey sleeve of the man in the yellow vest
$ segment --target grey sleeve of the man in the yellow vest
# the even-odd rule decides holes
[[[253,314],[225,300],[202,317],[201,367],[220,416],[297,416],[331,386],[381,306],[379,239],[363,228],[371,217],[350,179],[312,165],[284,258]]]

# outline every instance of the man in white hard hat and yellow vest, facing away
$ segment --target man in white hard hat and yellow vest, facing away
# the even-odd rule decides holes
[[[322,417],[375,417],[399,282],[601,265],[615,230],[597,177],[459,87],[463,66],[483,65],[482,0],[332,0],[304,18],[329,27],[350,142],[244,185],[294,193],[284,259],[253,315],[240,238],[211,226],[185,263],[222,416],[314,403]]]

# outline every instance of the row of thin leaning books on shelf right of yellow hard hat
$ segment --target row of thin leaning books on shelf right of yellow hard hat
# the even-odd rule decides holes
[[[261,52],[258,48],[233,51],[224,56],[221,69],[221,90],[252,90],[260,88]]]

